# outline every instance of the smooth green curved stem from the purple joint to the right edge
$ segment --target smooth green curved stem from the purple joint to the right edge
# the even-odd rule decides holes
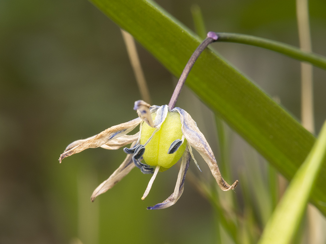
[[[265,38],[260,38],[251,35],[235,34],[235,33],[216,33],[218,36],[217,42],[235,42],[256,47],[263,47],[275,52],[282,53],[290,58],[300,61],[310,62],[311,64],[326,70],[326,58],[311,52],[300,50],[298,47],[293,47],[277,41],[272,41]]]

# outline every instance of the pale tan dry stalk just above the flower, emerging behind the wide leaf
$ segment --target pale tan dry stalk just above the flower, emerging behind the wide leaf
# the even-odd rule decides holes
[[[123,39],[125,41],[129,60],[130,60],[132,69],[134,71],[135,77],[136,77],[139,91],[141,93],[141,99],[149,104],[152,104],[151,96],[149,94],[149,90],[148,90],[147,83],[145,80],[145,75],[141,68],[141,62],[139,61],[139,56],[138,56],[138,52],[136,49],[135,40],[132,37],[132,35],[130,35],[128,32],[126,32],[122,29],[121,29],[121,33],[122,33]]]

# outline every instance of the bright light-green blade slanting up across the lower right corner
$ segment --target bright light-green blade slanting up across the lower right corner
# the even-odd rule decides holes
[[[326,122],[317,142],[298,169],[277,205],[259,244],[287,244],[298,228],[307,206],[313,183],[326,159]]]

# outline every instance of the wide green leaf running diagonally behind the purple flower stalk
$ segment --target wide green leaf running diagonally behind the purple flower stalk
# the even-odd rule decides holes
[[[152,1],[90,1],[176,77],[200,44],[188,28]],[[281,106],[210,49],[200,55],[186,84],[286,178],[294,176],[316,138]],[[312,194],[312,202],[324,214],[325,177],[323,167]]]

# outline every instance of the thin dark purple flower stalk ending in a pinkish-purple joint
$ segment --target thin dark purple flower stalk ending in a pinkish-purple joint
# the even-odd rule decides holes
[[[215,42],[217,40],[217,35],[215,34],[215,32],[210,31],[209,33],[207,33],[207,38],[205,40],[203,40],[202,43],[200,43],[200,45],[197,47],[197,49],[194,51],[194,53],[191,55],[189,61],[187,62],[185,69],[183,70],[180,79],[178,81],[177,86],[174,89],[174,92],[172,94],[171,100],[169,102],[169,108],[173,109],[175,106],[175,103],[178,100],[178,97],[181,93],[181,90],[185,84],[185,80],[187,78],[187,76],[189,75],[189,72],[192,68],[192,66],[194,66],[195,61],[197,60],[197,58],[199,57],[200,53],[212,42]]]

